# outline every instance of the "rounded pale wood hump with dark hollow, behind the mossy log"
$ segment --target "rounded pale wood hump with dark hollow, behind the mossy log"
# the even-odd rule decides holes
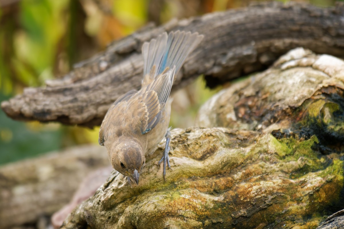
[[[197,126],[318,137],[319,150],[342,151],[344,61],[297,48],[272,68],[223,89],[199,110]]]

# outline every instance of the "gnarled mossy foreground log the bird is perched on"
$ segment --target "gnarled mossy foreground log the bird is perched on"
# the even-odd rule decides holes
[[[62,228],[316,228],[343,203],[343,160],[313,151],[315,137],[277,140],[225,128],[172,136],[166,182],[156,165],[161,144],[139,186],[114,172]]]

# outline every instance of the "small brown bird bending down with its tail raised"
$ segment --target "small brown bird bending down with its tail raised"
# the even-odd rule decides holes
[[[175,31],[159,35],[142,45],[144,60],[141,89],[118,98],[107,111],[99,130],[99,144],[105,146],[112,167],[139,184],[146,155],[166,138],[163,162],[165,180],[171,134],[170,92],[174,76],[203,35]]]

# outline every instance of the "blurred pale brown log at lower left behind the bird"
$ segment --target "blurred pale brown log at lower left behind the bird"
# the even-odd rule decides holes
[[[0,167],[0,228],[52,215],[88,173],[108,165],[104,147],[85,146]]]

